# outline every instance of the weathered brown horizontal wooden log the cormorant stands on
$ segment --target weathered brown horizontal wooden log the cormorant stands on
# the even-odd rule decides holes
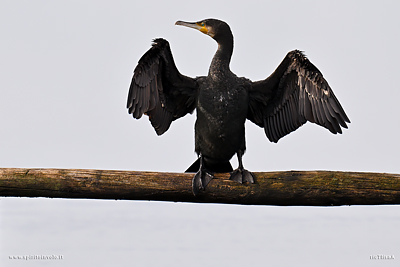
[[[0,196],[158,200],[282,206],[400,204],[400,175],[337,171],[255,173],[256,184],[216,174],[193,196],[193,174],[0,168]]]

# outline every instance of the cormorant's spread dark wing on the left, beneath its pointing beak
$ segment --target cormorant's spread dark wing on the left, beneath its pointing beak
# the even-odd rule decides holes
[[[195,79],[179,73],[168,41],[155,39],[134,70],[128,112],[136,119],[148,115],[156,133],[161,135],[173,120],[193,112],[197,87]]]

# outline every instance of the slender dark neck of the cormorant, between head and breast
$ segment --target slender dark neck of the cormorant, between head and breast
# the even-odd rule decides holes
[[[233,53],[232,35],[227,38],[224,38],[221,41],[218,41],[218,50],[212,59],[209,75],[210,74],[216,75],[224,71],[230,72],[229,63],[231,62],[232,53]]]

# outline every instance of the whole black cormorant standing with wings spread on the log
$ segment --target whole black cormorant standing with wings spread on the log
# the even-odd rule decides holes
[[[271,142],[307,121],[342,133],[350,122],[322,73],[299,50],[289,52],[265,80],[252,82],[237,77],[229,68],[233,35],[229,25],[217,19],[177,21],[211,36],[218,43],[208,76],[190,78],[175,66],[168,41],[155,39],[136,66],[129,88],[127,108],[134,118],[143,114],[158,135],[171,122],[196,109],[195,151],[199,158],[187,172],[193,193],[204,190],[215,172],[233,171],[229,160],[237,154],[239,167],[230,179],[254,183],[243,168],[245,121],[264,128]]]

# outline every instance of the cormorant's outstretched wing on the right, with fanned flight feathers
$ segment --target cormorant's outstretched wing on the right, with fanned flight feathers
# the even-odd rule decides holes
[[[307,121],[342,133],[350,122],[322,73],[300,51],[289,52],[267,79],[253,82],[247,118],[271,142]]]

